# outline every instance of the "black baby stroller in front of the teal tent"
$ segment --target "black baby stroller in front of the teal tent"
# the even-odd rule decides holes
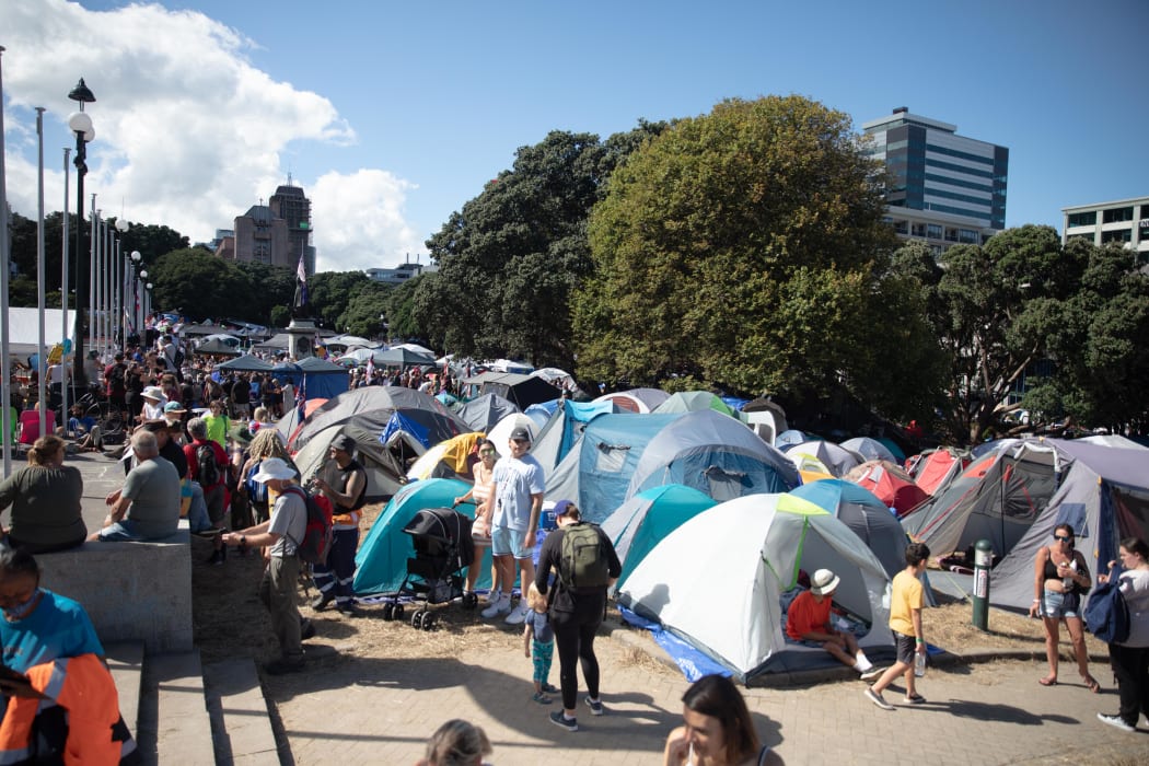
[[[465,609],[475,609],[479,599],[463,594],[462,571],[475,559],[471,519],[449,508],[429,508],[415,514],[403,532],[411,535],[415,558],[407,559],[407,577],[399,591],[383,608],[384,620],[403,619],[400,598],[414,597],[423,605],[411,614],[411,627],[432,630],[439,621],[427,610],[430,604],[445,604],[462,598]]]

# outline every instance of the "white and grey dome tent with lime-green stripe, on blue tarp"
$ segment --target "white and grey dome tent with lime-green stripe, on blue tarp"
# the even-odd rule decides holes
[[[831,667],[822,649],[787,643],[781,596],[799,570],[841,577],[834,602],[869,632],[867,652],[893,645],[889,578],[836,518],[792,495],[749,495],[699,513],[671,532],[627,578],[618,601],[660,620],[742,681],[761,673]],[[873,653],[871,653],[871,657]]]

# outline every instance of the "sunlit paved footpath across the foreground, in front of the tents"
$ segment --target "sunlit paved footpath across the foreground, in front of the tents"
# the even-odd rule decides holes
[[[511,634],[506,649],[453,660],[329,657],[291,679],[294,694],[276,679],[267,691],[296,764],[414,764],[450,718],[483,726],[494,745],[491,763],[500,766],[658,764],[688,684],[676,671],[635,661],[632,643],[596,643],[607,714],[591,717],[580,701],[573,734],[547,720],[557,702],[531,701],[530,664]],[[1043,688],[1043,663],[1023,660],[931,670],[919,684],[928,703],[893,712],[869,702],[859,681],[745,694],[759,735],[788,764],[1149,763],[1149,727],[1124,734],[1096,720],[1098,711],[1117,710],[1108,668],[1094,666],[1106,687],[1100,695],[1075,675]],[[552,675],[556,682],[557,659]],[[886,697],[901,694],[888,689]]]

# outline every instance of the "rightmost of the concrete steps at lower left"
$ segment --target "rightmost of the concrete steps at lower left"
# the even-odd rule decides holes
[[[283,761],[255,663],[252,659],[211,663],[203,667],[203,683],[216,763],[279,766]]]

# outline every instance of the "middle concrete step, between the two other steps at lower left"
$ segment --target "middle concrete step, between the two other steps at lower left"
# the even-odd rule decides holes
[[[200,652],[148,655],[137,741],[144,764],[215,764]]]

